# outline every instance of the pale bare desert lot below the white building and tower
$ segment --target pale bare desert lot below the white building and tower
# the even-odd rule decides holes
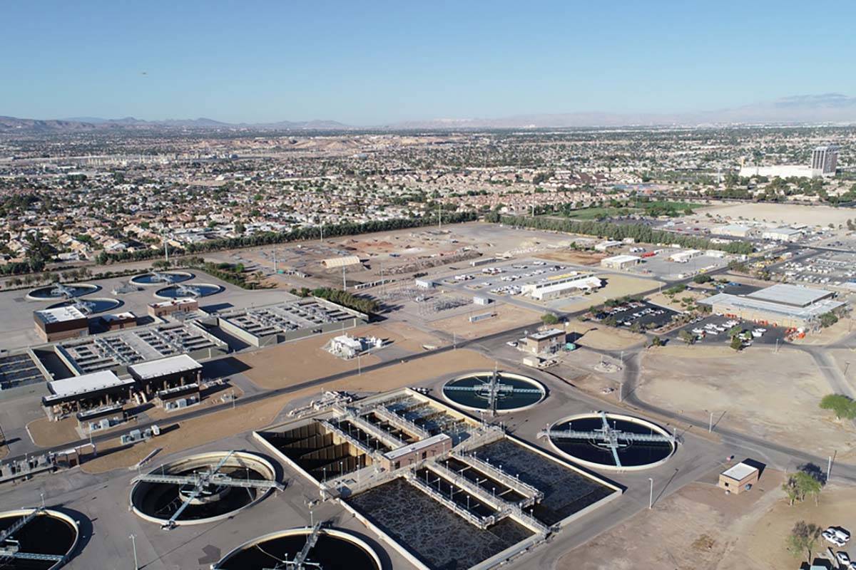
[[[740,203],[723,204],[699,209],[699,214],[721,216],[729,220],[766,221],[776,224],[809,224],[828,226],[847,223],[853,211],[829,206],[800,206],[799,204]]]

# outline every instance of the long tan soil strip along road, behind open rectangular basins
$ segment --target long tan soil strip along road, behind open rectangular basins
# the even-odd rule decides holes
[[[102,454],[100,457],[86,462],[82,468],[87,473],[104,473],[120,467],[131,467],[151,453],[152,450],[161,449],[159,455],[169,455],[208,444],[217,439],[259,429],[269,425],[288,403],[293,400],[300,400],[300,398],[318,395],[324,390],[388,391],[417,384],[443,374],[473,369],[489,369],[493,365],[494,361],[473,350],[454,350],[442,355],[426,356],[419,361],[396,364],[371,373],[354,374],[346,379],[330,382],[323,386],[312,386],[290,394],[272,397],[259,403],[248,404],[235,409],[229,408],[187,420],[158,438],[153,438],[149,442],[128,449],[110,453],[110,450],[115,449],[119,444],[118,439],[111,440],[110,444],[99,446],[99,453]],[[300,382],[288,383],[288,385],[296,384],[300,384]],[[169,426],[169,424],[165,426]]]

